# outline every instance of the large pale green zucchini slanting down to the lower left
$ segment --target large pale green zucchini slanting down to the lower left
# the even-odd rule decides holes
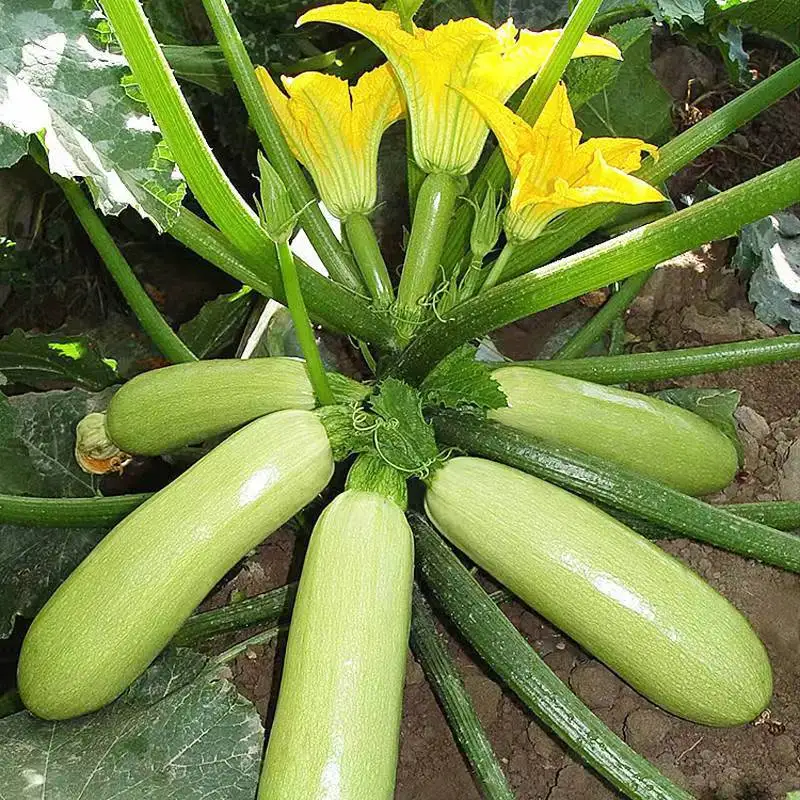
[[[30,711],[66,719],[126,689],[225,573],[333,474],[310,411],[252,422],[119,523],[56,590],[22,645]]]

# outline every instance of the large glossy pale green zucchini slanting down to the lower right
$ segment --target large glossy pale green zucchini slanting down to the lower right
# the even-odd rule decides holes
[[[667,711],[738,725],[772,672],[747,620],[677,559],[563,489],[480,458],[433,476],[428,515],[535,611]]]

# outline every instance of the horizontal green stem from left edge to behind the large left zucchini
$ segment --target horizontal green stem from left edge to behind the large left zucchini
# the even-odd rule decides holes
[[[0,523],[37,528],[104,528],[116,525],[150,494],[119,497],[21,497],[0,494]]]

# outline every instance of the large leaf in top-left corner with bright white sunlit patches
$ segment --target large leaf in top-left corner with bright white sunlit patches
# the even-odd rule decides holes
[[[146,109],[126,94],[122,56],[95,43],[89,11],[53,0],[0,0],[0,165],[39,137],[52,172],[85,177],[104,214],[132,206],[161,228],[185,187]]]

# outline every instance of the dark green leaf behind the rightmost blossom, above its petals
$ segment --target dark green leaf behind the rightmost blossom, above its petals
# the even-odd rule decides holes
[[[672,99],[650,69],[651,35],[627,49],[615,80],[575,115],[584,138],[630,136],[658,144],[672,132]]]

